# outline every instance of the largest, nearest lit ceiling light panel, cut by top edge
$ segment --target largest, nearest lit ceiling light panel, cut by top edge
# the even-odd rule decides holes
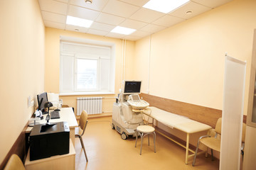
[[[150,0],[144,4],[144,8],[149,8],[161,13],[169,13],[174,9],[186,4],[189,0]]]

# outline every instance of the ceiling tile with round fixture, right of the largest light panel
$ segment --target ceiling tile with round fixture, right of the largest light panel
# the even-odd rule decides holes
[[[207,7],[207,6],[203,6],[200,4],[196,4],[195,2],[188,2],[186,5],[181,6],[180,8],[177,8],[174,11],[171,11],[169,14],[171,16],[176,16],[179,18],[184,18],[184,19],[188,19],[188,18],[192,18],[194,16],[197,16],[200,13],[209,11],[211,8]],[[187,11],[192,11],[191,14],[187,14]]]

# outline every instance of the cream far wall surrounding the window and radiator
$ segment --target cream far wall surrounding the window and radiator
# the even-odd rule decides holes
[[[45,91],[59,93],[59,70],[60,70],[60,36],[69,36],[75,38],[85,38],[90,40],[100,40],[105,42],[112,42],[115,44],[115,94],[118,94],[121,87],[122,79],[132,78],[133,67],[132,60],[134,56],[134,42],[114,38],[106,38],[97,35],[90,35],[85,33],[77,33],[68,30],[59,30],[55,28],[46,28],[46,81]],[[123,55],[125,45],[125,57]],[[125,60],[125,62],[124,62]],[[124,64],[126,65],[124,69]],[[124,75],[123,75],[124,74]],[[86,96],[86,95],[82,95]],[[76,98],[82,96],[60,96],[63,99],[63,104],[74,107],[76,110]],[[103,111],[111,112],[112,105],[115,101],[115,95],[95,95],[106,97],[103,100]],[[112,99],[110,99],[112,97]]]

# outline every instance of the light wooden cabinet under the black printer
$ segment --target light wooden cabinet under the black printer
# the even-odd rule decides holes
[[[34,161],[30,161],[30,153],[28,150],[25,168],[26,170],[75,170],[75,149],[72,142],[70,142],[70,152],[68,154],[55,155],[53,157],[38,159]]]

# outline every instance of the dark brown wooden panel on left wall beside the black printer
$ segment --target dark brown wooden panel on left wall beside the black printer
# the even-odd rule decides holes
[[[28,123],[26,123],[25,127],[21,131],[21,134],[18,136],[17,140],[14,142],[14,145],[9,150],[8,154],[6,154],[6,157],[4,158],[3,162],[1,162],[0,170],[4,169],[6,166],[9,158],[12,154],[17,154],[18,157],[21,158],[21,161],[24,163],[26,159],[26,137],[25,137],[25,131],[28,127]]]

